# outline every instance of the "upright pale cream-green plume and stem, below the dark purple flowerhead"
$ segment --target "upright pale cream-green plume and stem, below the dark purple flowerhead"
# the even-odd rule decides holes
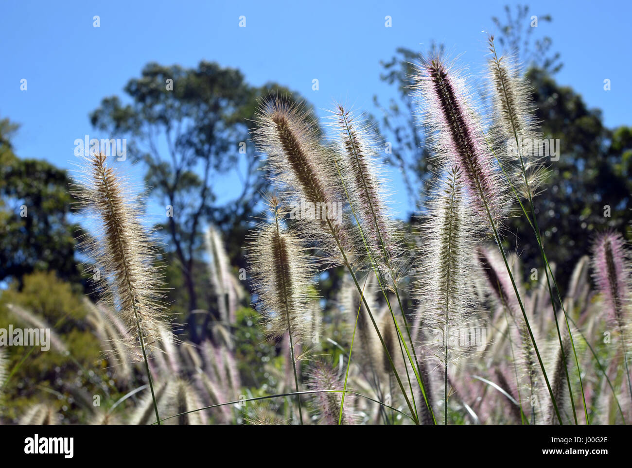
[[[466,210],[461,170],[453,167],[439,183],[425,224],[425,258],[420,268],[422,318],[432,335],[432,351],[444,367],[444,423],[447,424],[448,366],[465,352],[451,335],[468,327],[473,309],[473,258],[476,231]]]

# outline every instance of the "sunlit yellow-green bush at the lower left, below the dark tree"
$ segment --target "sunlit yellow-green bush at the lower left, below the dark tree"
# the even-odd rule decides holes
[[[38,272],[25,275],[21,291],[17,282],[13,282],[0,296],[0,328],[8,328],[9,324],[14,328],[33,327],[11,313],[8,304],[20,306],[46,321],[68,354],[53,346],[49,351],[37,346],[7,347],[9,373],[15,373],[4,388],[11,401],[4,416],[16,421],[28,407],[47,402],[61,409],[65,422],[82,421],[92,411],[87,402],[92,400],[93,394],[100,393],[97,388],[102,387],[102,381],[92,370],[99,367],[102,356],[98,340],[87,328],[87,311],[80,297],[54,272]]]

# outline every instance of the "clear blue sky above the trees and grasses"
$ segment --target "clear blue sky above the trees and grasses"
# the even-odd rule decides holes
[[[423,50],[430,40],[477,68],[486,51],[483,30],[504,17],[505,1],[3,1],[0,6],[0,117],[21,124],[21,157],[70,167],[73,141],[91,134],[88,112],[103,97],[122,95],[149,61],[196,66],[205,59],[240,68],[253,85],[274,80],[307,97],[320,114],[332,99],[375,112],[394,90],[379,80],[380,59],[396,47]],[[607,126],[631,124],[629,1],[532,1],[549,13],[537,34],[549,35],[571,85]],[[100,28],[93,16],[100,16]],[[238,27],[246,16],[246,28]],[[392,27],[384,27],[384,17]],[[20,91],[27,78],[28,90]],[[318,78],[320,90],[312,91]],[[604,92],[604,78],[612,91]],[[408,210],[398,174],[399,213]],[[226,181],[236,180],[228,177]],[[230,190],[217,190],[229,196]]]

